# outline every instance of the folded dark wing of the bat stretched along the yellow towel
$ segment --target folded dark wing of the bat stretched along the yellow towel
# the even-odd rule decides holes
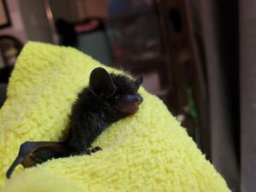
[[[10,177],[15,167],[21,164],[24,167],[35,166],[53,158],[67,157],[72,154],[73,149],[64,143],[57,142],[26,142],[20,145],[20,151],[6,172]]]

